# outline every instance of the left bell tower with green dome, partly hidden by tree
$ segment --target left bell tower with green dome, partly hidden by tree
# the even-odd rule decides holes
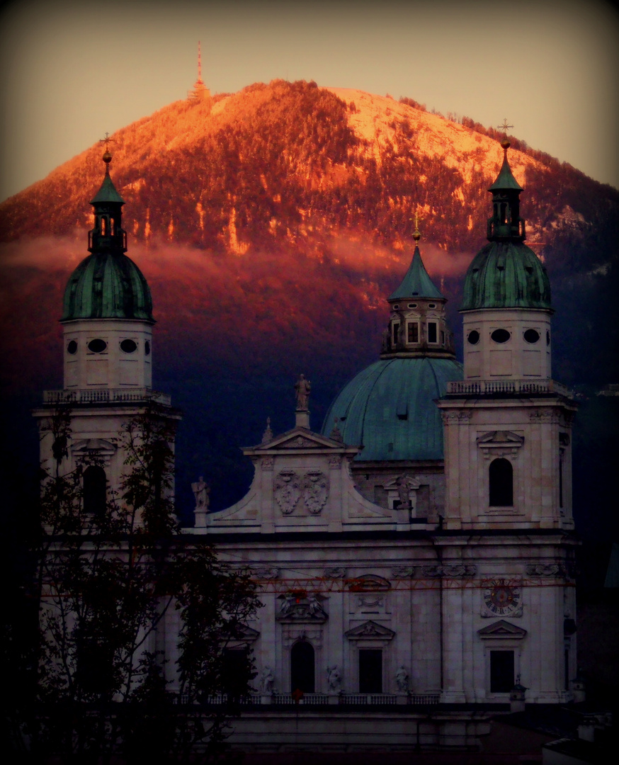
[[[64,291],[64,387],[45,391],[44,405],[34,411],[41,431],[41,464],[49,469],[50,418],[59,406],[67,408],[71,438],[62,470],[96,462],[96,469],[84,472],[83,489],[85,503],[94,496],[93,506],[99,507],[119,490],[126,471],[125,424],[153,404],[158,418],[180,418],[170,397],[152,389],[151,292],[138,266],[125,255],[125,202],[110,177],[111,161],[106,148],[105,176],[91,201],[90,255],[70,275]],[[92,481],[86,480],[89,475]]]

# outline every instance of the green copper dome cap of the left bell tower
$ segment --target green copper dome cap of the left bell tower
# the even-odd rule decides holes
[[[151,291],[138,266],[122,253],[93,252],[71,274],[60,321],[152,317]]]

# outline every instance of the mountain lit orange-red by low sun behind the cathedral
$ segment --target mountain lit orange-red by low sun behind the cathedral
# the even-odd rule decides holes
[[[155,385],[191,412],[187,471],[210,469],[223,486],[234,468],[247,480],[236,448],[259,441],[266,415],[275,429],[291,425],[301,371],[320,427],[337,389],[376,358],[415,213],[459,337],[462,276],[485,241],[501,137],[412,99],[282,80],[172,103],[112,135],[128,254],[158,319]],[[552,283],[554,376],[617,381],[619,191],[510,141],[527,243]],[[0,205],[6,395],[61,385],[57,318],[87,254],[102,153],[94,145]],[[234,494],[223,491],[215,505]]]

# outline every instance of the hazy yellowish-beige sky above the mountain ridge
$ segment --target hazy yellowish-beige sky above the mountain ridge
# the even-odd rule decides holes
[[[619,188],[606,0],[13,0],[0,10],[0,200],[187,96],[275,78],[408,96]]]

